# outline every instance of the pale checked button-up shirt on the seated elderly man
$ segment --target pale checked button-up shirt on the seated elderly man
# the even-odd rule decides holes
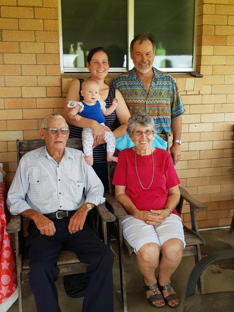
[[[101,180],[85,163],[80,150],[66,147],[57,164],[43,146],[21,158],[8,192],[7,207],[12,215],[27,209],[42,214],[77,210],[85,202],[105,202],[103,193]]]

